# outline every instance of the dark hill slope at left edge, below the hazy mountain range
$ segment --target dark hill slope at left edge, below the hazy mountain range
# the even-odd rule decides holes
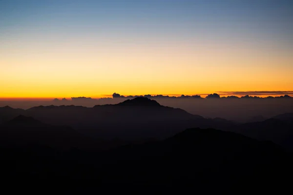
[[[92,144],[92,140],[68,126],[49,125],[22,115],[0,125],[0,142],[7,147],[42,144],[60,149]]]

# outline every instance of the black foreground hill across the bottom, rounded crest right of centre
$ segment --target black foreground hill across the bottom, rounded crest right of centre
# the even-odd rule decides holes
[[[61,151],[30,141],[21,147],[0,145],[2,178],[97,179],[97,186],[159,185],[168,187],[166,192],[172,186],[192,186],[193,192],[207,186],[205,192],[219,193],[236,186],[264,192],[282,184],[285,189],[292,174],[290,154],[272,142],[214,129],[187,129],[107,151]]]

